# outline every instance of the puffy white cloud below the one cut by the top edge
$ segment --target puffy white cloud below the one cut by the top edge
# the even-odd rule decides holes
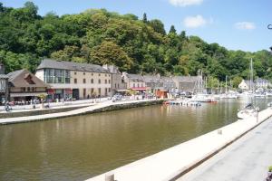
[[[209,18],[209,20],[206,20],[201,15],[188,16],[183,20],[183,24],[187,28],[198,28],[206,24],[212,24],[212,22],[213,22],[212,18]]]

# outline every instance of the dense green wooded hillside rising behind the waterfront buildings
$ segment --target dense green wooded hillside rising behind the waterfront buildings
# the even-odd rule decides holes
[[[37,14],[31,2],[21,8],[0,3],[0,60],[6,71],[35,71],[44,57],[56,60],[115,64],[131,73],[196,75],[201,69],[213,82],[228,75],[233,86],[248,79],[249,59],[255,77],[272,79],[270,52],[230,51],[198,36],[166,32],[158,19],[88,9],[81,14]],[[210,34],[212,35],[212,34]],[[233,40],[235,43],[235,40]],[[217,84],[217,83],[216,83]]]

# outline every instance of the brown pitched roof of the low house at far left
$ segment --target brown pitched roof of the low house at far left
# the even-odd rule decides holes
[[[33,73],[25,69],[19,71],[13,71],[7,74],[8,82],[11,83],[14,87],[36,87],[36,88],[46,88],[50,87],[44,81],[37,78]],[[31,81],[34,83],[29,83],[25,80],[27,76],[31,76]]]

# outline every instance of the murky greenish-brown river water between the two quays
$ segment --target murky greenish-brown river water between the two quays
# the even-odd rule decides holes
[[[255,103],[262,110],[270,101]],[[247,102],[156,105],[0,126],[0,180],[84,180],[228,125]]]

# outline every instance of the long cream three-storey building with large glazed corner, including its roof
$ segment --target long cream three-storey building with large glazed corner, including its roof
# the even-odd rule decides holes
[[[88,99],[112,95],[112,74],[100,65],[44,59],[35,75],[51,86],[48,99]]]

